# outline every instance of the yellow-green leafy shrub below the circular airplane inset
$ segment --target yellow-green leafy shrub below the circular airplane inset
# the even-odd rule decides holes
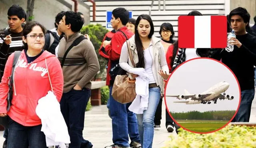
[[[256,148],[256,126],[228,124],[210,134],[179,130],[178,137],[171,135],[164,148]]]

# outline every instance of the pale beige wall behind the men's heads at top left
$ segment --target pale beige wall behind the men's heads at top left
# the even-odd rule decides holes
[[[27,0],[0,0],[0,29],[6,28],[7,12],[10,6],[19,4],[25,11],[27,9]],[[35,0],[34,21],[40,22],[48,30],[54,28],[55,16],[61,11],[74,11],[74,2],[71,0]],[[90,7],[79,1],[78,12],[82,12],[85,17],[85,25],[90,22]]]

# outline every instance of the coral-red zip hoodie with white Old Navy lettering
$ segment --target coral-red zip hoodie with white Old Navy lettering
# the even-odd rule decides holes
[[[40,118],[36,115],[36,106],[38,100],[51,90],[46,63],[54,94],[60,102],[64,84],[60,62],[55,55],[44,51],[42,55],[28,64],[23,50],[14,69],[12,105],[7,112],[8,77],[12,72],[13,58],[14,53],[9,56],[6,62],[4,75],[0,83],[0,113],[7,113],[12,120],[23,126],[42,124]]]

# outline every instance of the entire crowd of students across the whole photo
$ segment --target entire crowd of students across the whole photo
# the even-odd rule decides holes
[[[198,11],[188,15],[202,16]],[[82,16],[72,11],[60,12],[57,16],[56,29],[51,32],[63,37],[52,48],[48,44],[55,40],[49,41],[50,35],[46,35],[42,24],[28,22],[22,28],[26,13],[17,5],[8,10],[9,28],[0,31],[0,116],[8,115],[9,118],[4,133],[4,146],[7,148],[46,148],[45,135],[40,131],[42,122],[35,109],[38,100],[50,90],[60,102],[70,135],[69,148],[92,148],[92,144],[84,140],[82,131],[84,112],[90,98],[90,81],[99,71],[98,58],[90,40],[79,33],[84,24]],[[114,143],[105,148],[152,148],[154,129],[160,128],[166,80],[178,65],[195,57],[221,59],[234,72],[240,84],[242,101],[233,121],[249,121],[254,98],[256,37],[246,32],[250,14],[245,8],[232,10],[228,18],[228,27],[236,34],[236,38],[228,40],[232,40],[234,45],[234,51],[230,53],[225,49],[180,49],[178,40],[172,39],[174,30],[170,23],[161,25],[160,39],[153,35],[154,25],[147,14],[129,20],[129,12],[125,8],[112,11],[110,22],[114,30],[106,34],[99,50],[100,55],[108,60],[106,85],[110,88],[110,98],[107,107],[112,119]],[[135,67],[128,49],[132,51]],[[7,111],[14,51],[22,52],[14,68],[13,99]],[[137,70],[143,69],[147,73],[148,105],[143,112],[135,114],[129,110],[132,103],[121,104],[113,99],[111,93],[114,79],[119,74],[117,69],[124,69],[131,79],[140,77],[134,73]],[[176,130],[179,128],[166,110],[167,130],[174,131],[174,126]]]

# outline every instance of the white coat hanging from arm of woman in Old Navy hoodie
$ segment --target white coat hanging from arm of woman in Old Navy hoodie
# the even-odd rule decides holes
[[[52,91],[38,100],[36,114],[42,121],[42,129],[46,137],[46,146],[60,146],[66,148],[70,143],[70,136],[66,122],[60,112],[60,103]]]

